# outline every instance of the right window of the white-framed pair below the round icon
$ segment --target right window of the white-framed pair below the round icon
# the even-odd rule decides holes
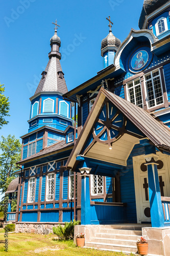
[[[163,92],[159,70],[150,72],[144,76],[145,86],[147,90],[148,108],[163,103]]]

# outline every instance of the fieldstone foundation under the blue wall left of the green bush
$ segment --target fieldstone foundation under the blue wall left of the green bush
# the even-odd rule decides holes
[[[53,227],[58,224],[34,224],[34,223],[16,223],[16,233],[50,234],[53,233]]]

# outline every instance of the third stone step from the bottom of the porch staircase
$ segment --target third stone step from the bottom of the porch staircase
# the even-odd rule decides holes
[[[113,234],[113,233],[95,233],[94,238],[105,238],[105,239],[120,239],[120,240],[133,240],[137,241],[137,239],[141,238],[140,236],[135,236],[134,234]]]

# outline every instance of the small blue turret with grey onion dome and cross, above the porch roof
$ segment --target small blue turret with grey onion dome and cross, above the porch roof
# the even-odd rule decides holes
[[[106,18],[109,21],[109,34],[102,40],[102,46],[101,46],[101,55],[103,57],[103,68],[107,68],[111,64],[113,64],[114,56],[116,54],[116,51],[118,47],[120,46],[121,42],[118,38],[116,38],[112,34],[112,25],[113,23],[109,18]],[[111,25],[112,24],[112,25]]]

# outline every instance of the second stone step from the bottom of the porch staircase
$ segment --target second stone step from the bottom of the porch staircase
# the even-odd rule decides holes
[[[112,238],[91,238],[90,240],[93,244],[113,244],[117,246],[135,246],[136,247],[136,240],[127,240],[127,239],[112,239]]]

